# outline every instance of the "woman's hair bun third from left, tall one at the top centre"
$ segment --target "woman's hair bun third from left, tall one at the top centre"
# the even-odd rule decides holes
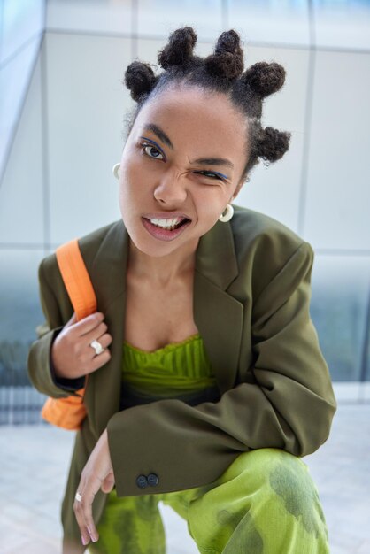
[[[227,79],[235,79],[243,73],[243,50],[239,35],[231,29],[222,33],[214,54],[204,59],[208,73]]]

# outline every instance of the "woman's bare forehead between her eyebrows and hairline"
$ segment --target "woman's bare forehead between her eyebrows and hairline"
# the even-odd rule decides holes
[[[166,132],[174,150],[186,146],[233,159],[245,156],[247,123],[225,95],[199,88],[166,90],[144,104],[134,127],[149,123]]]

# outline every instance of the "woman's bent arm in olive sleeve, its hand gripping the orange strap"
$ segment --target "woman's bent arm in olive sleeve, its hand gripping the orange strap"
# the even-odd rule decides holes
[[[45,270],[44,265],[48,264]],[[47,275],[53,287],[50,286]],[[90,314],[80,321],[76,320],[74,313],[70,317],[73,308],[55,258],[46,258],[42,262],[39,280],[42,310],[47,324],[43,326],[40,339],[31,346],[28,372],[35,388],[44,394],[55,398],[74,395],[76,390],[83,387],[85,376],[111,358],[107,347],[111,344],[112,337],[106,333],[104,315],[100,312]],[[104,347],[104,351],[98,356],[90,347],[90,343],[97,339]]]

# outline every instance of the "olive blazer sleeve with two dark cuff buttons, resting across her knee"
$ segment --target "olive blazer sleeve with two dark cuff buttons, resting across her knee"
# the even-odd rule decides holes
[[[241,452],[272,447],[304,456],[326,441],[335,397],[310,318],[312,261],[301,243],[258,295],[248,382],[215,404],[161,400],[110,419],[118,496],[190,489],[215,481]],[[149,473],[158,486],[138,489],[137,476]]]

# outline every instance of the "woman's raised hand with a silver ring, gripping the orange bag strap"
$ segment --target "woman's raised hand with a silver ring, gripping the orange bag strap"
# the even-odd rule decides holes
[[[51,347],[51,360],[57,377],[76,379],[105,365],[111,359],[107,347],[112,336],[107,333],[104,314],[96,312],[77,321],[75,314],[66,323]],[[98,341],[105,349],[101,354],[91,346]]]

